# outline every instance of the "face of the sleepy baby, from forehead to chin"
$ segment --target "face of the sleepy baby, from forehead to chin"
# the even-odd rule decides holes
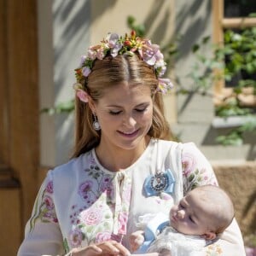
[[[192,190],[183,197],[178,205],[172,207],[170,211],[170,222],[172,227],[187,235],[203,235],[207,232],[210,209],[205,201],[201,200],[201,195]]]

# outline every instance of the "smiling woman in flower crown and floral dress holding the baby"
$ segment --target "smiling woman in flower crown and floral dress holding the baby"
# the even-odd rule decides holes
[[[82,56],[73,158],[45,178],[19,256],[129,255],[138,216],[167,214],[189,190],[217,184],[193,143],[170,140],[165,71],[159,46],[135,32],[108,34]],[[244,255],[236,221],[209,253]]]

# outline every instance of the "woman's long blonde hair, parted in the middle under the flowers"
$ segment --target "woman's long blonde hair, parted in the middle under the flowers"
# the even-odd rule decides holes
[[[102,60],[96,60],[90,75],[84,79],[84,88],[93,101],[97,102],[104,96],[105,90],[114,90],[115,86],[128,82],[130,86],[150,87],[153,101],[153,122],[148,131],[150,137],[172,139],[172,132],[164,116],[163,99],[155,92],[158,86],[154,68],[150,67],[137,54],[107,55]],[[73,157],[78,157],[96,147],[100,143],[101,131],[92,127],[93,115],[88,103],[76,98],[75,145]]]

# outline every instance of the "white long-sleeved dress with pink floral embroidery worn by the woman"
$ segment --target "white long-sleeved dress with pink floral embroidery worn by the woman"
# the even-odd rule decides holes
[[[63,255],[108,240],[129,249],[138,216],[167,214],[189,190],[209,183],[218,184],[194,143],[151,139],[140,158],[120,172],[105,169],[92,149],[48,172],[18,256]],[[206,247],[204,255],[244,255],[236,221],[233,226],[227,241]]]

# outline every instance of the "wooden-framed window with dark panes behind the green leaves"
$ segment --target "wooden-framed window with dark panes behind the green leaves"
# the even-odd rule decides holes
[[[236,33],[242,35],[243,30],[246,28],[252,29],[256,27],[256,2],[248,0],[212,0],[213,9],[213,42],[214,44],[224,44],[227,34]],[[234,58],[234,55],[230,55]],[[254,56],[254,61],[256,57]],[[256,62],[255,62],[256,63]],[[225,67],[230,65],[230,59],[225,58]],[[249,69],[248,69],[249,70]],[[219,80],[215,84],[215,97],[214,102],[216,105],[222,104],[224,99],[231,96],[234,92],[234,86],[237,85],[239,80],[256,81],[256,75],[246,70],[239,70],[235,76],[229,80]],[[255,87],[255,84],[253,85]],[[255,107],[256,97],[254,95],[253,86],[243,87],[240,95],[242,105]]]

